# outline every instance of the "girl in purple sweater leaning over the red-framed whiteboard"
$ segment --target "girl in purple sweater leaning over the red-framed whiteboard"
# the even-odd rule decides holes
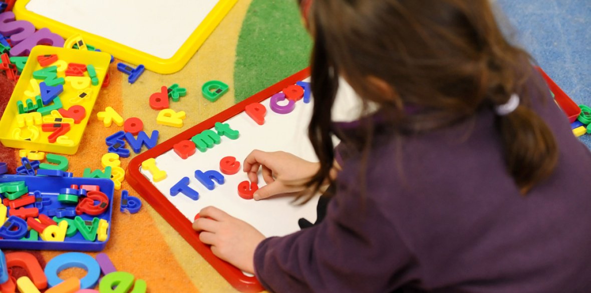
[[[262,167],[258,200],[335,194],[321,223],[268,239],[207,207],[213,253],[273,292],[591,291],[591,153],[489,0],[300,2],[320,162],[254,151],[244,171]],[[339,77],[358,121],[331,121]]]

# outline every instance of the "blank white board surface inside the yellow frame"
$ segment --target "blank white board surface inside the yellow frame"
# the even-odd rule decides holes
[[[218,0],[30,0],[28,11],[168,59]]]

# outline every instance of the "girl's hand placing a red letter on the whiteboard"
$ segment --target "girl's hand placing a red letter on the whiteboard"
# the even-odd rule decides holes
[[[266,186],[255,191],[254,199],[260,200],[281,193],[294,193],[306,189],[305,185],[319,170],[319,163],[309,162],[287,152],[263,152],[254,150],[244,160],[243,170],[248,179],[258,183],[258,170]]]

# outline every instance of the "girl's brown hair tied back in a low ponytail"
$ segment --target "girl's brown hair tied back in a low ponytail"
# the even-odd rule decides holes
[[[334,130],[327,109],[339,76],[362,97],[365,113],[369,102],[378,106],[394,135],[465,121],[518,93],[518,108],[496,116],[506,168],[522,194],[553,172],[556,141],[530,108],[532,89],[543,95],[543,84],[525,86],[532,74],[530,57],[502,35],[489,0],[316,0],[306,10],[316,97],[309,136],[321,165],[309,185],[316,190],[333,167]],[[408,113],[409,108],[419,110]],[[366,158],[375,124],[363,121],[363,137],[352,142]]]

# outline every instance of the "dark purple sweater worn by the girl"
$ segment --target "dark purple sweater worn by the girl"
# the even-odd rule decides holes
[[[560,159],[527,197],[505,170],[492,110],[400,147],[389,138],[370,154],[366,198],[353,154],[324,221],[264,240],[256,277],[289,293],[591,292],[591,152],[540,100]]]

